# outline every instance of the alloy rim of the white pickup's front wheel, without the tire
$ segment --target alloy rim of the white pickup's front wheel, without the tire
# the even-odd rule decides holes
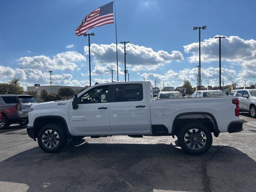
[[[55,148],[60,142],[60,136],[54,130],[46,130],[42,135],[42,143],[48,149]]]

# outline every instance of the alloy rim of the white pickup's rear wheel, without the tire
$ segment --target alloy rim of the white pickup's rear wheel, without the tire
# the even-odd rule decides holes
[[[200,129],[190,129],[186,132],[184,141],[190,149],[199,150],[206,144],[206,135]]]

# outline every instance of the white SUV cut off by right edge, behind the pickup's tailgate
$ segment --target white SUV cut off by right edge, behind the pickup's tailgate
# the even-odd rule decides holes
[[[229,96],[238,97],[241,111],[250,112],[251,117],[256,118],[256,89],[233,90]]]

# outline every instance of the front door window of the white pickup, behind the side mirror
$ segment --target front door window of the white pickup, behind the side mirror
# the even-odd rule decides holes
[[[108,99],[108,85],[98,86],[96,88],[90,89],[80,96],[80,104],[86,103],[106,103],[109,102]]]

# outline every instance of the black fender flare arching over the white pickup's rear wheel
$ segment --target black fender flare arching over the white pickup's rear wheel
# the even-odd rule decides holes
[[[177,122],[177,120],[178,120],[178,118],[180,117],[180,116],[183,116],[183,115],[194,115],[194,114],[202,114],[202,115],[208,115],[208,116],[210,116],[211,118],[212,118],[212,120],[213,120],[213,122],[214,122],[214,136],[215,137],[218,137],[219,136],[219,134],[220,134],[220,130],[219,130],[219,128],[218,128],[218,124],[217,124],[217,121],[216,121],[216,119],[215,119],[215,117],[212,115],[212,114],[210,114],[210,113],[208,113],[208,112],[186,112],[186,113],[180,113],[180,114],[178,114],[175,118],[174,118],[174,120],[173,120],[173,123],[172,123],[172,137],[174,137],[174,133],[175,133],[175,125],[176,125],[176,122]]]

